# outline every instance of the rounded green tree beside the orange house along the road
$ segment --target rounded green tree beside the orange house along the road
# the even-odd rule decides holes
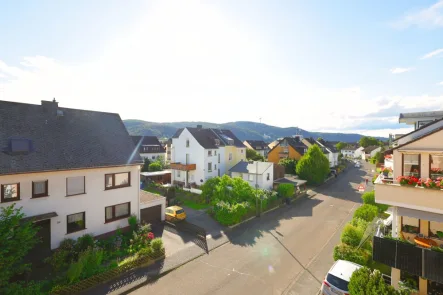
[[[320,184],[329,174],[329,160],[314,144],[298,161],[296,170],[300,178],[306,180],[308,184]]]

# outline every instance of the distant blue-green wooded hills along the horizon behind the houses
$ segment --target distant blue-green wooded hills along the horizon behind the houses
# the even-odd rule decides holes
[[[280,137],[301,134],[303,137],[321,137],[328,141],[356,142],[362,137],[361,134],[355,133],[309,132],[297,127],[281,128],[247,121],[224,124],[208,122],[154,123],[142,120],[124,120],[123,122],[131,135],[155,135],[159,138],[171,137],[178,128],[195,127],[197,125],[203,125],[204,128],[230,129],[241,140],[263,139],[272,141]],[[386,138],[383,137],[379,137],[378,139],[386,140]]]

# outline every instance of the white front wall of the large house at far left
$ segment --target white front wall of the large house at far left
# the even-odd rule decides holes
[[[105,174],[130,172],[131,186],[105,190]],[[66,178],[85,177],[85,194],[66,196]],[[48,197],[32,197],[32,182],[48,180]],[[65,238],[76,239],[84,234],[100,235],[118,227],[128,226],[127,218],[105,223],[105,207],[131,203],[131,214],[139,217],[140,167],[125,166],[60,172],[29,173],[0,176],[0,184],[20,183],[20,200],[0,203],[0,207],[16,203],[26,216],[56,212],[51,218],[51,249],[58,248]],[[85,212],[86,229],[67,234],[67,215]]]

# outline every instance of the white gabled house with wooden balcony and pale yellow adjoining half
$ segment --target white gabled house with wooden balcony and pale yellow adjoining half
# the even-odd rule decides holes
[[[246,160],[246,146],[230,131],[186,127],[172,137],[172,183],[200,186],[207,179],[227,174]]]

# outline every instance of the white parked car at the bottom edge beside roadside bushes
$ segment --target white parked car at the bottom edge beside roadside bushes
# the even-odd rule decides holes
[[[346,260],[337,260],[326,274],[321,286],[322,295],[349,295],[348,284],[351,275],[361,265]]]

